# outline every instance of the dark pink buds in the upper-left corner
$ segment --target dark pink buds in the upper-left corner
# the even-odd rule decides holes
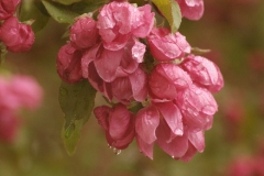
[[[0,1],[0,42],[12,53],[28,52],[31,50],[35,36],[31,28],[32,21],[19,22],[14,15],[21,0]]]

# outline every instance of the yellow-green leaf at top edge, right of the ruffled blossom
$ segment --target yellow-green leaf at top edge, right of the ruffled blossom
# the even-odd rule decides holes
[[[182,22],[182,13],[175,0],[152,0],[170,25],[173,33],[176,33]]]

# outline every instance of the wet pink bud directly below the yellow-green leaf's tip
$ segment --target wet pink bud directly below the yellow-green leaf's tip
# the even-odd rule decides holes
[[[168,29],[153,29],[147,36],[152,55],[158,61],[170,61],[190,53],[190,45],[179,32],[172,34]]]

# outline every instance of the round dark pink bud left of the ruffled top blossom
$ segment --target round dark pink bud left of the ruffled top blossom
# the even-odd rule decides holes
[[[97,23],[89,16],[77,19],[72,25],[69,34],[72,45],[76,48],[90,47],[99,40]]]

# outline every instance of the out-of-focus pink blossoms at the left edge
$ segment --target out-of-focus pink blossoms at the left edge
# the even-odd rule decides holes
[[[42,95],[42,88],[31,77],[0,77],[0,141],[15,139],[20,124],[18,111],[36,109]]]

